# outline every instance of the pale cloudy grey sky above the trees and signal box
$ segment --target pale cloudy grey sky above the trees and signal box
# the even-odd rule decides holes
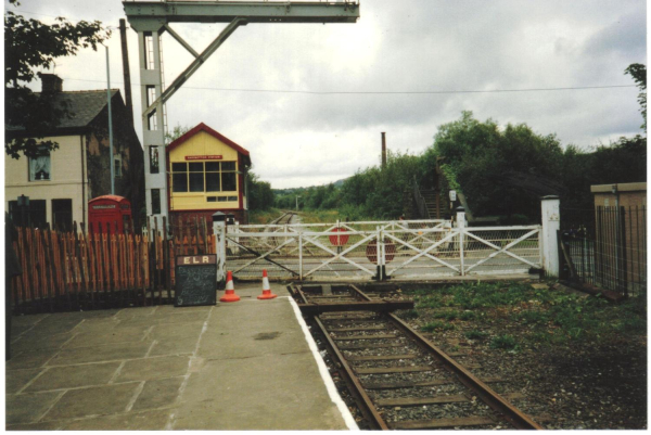
[[[111,82],[124,95],[120,1],[4,2],[44,23],[65,16],[114,27]],[[196,51],[225,26],[171,25]],[[128,44],[139,114],[133,30]],[[100,49],[56,62],[64,90],[105,89]],[[193,57],[169,35],[163,50],[170,84]],[[205,123],[247,149],[253,171],[273,189],[320,185],[378,165],[382,131],[390,151],[419,154],[462,111],[556,133],[564,146],[641,133],[638,89],[624,75],[631,63],[647,63],[644,0],[360,0],[355,24],[240,27],[168,101],[168,126]],[[613,86],[627,87],[521,91]],[[495,90],[509,92],[452,92]]]

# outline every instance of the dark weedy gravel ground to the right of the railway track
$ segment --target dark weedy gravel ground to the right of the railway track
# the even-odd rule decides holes
[[[468,340],[464,333],[481,330],[488,337],[510,334],[519,343],[526,325],[514,323],[505,308],[482,308],[493,319],[451,322],[454,330],[434,332],[432,341],[456,356],[480,379],[500,378],[492,383],[499,394],[521,393],[512,400],[519,409],[546,428],[647,428],[647,337],[620,334],[516,350],[496,349],[489,340]],[[418,319],[406,319],[420,328],[434,321],[441,310],[419,309]],[[400,312],[398,312],[400,315]],[[405,315],[405,311],[401,312]],[[441,319],[436,319],[441,320]]]

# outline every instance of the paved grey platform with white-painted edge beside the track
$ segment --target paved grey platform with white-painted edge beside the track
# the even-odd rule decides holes
[[[241,302],[215,307],[14,317],[7,430],[355,428],[286,290],[272,291],[258,300],[259,284],[238,285]]]

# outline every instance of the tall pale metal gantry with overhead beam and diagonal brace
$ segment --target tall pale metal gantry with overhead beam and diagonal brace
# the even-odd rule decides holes
[[[138,33],[142,140],[145,154],[146,214],[168,216],[164,105],[239,27],[250,23],[356,23],[359,2],[339,1],[124,1],[127,20]],[[201,53],[173,23],[228,23]],[[163,85],[161,36],[167,31],[194,61],[167,87]],[[162,225],[162,221],[159,222]]]

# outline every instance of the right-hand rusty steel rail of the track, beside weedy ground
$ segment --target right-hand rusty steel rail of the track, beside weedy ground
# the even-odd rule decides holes
[[[357,286],[350,285],[350,287],[360,298],[372,300],[370,296],[365,294]],[[410,328],[397,316],[387,314],[387,317],[400,331],[413,338],[421,348],[433,354],[449,370],[456,373],[459,381],[463,385],[476,393],[477,397],[482,399],[484,404],[488,405],[494,411],[502,414],[515,428],[542,430],[542,426],[511,405],[488,385],[480,381],[480,379],[468,371],[468,369],[450,358],[442,349]]]

